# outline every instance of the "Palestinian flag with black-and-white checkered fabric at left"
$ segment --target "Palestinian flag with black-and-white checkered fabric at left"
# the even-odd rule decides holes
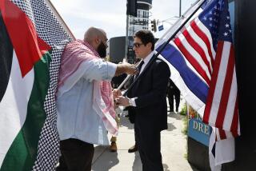
[[[71,38],[44,1],[0,0],[0,170],[54,170],[54,93]]]

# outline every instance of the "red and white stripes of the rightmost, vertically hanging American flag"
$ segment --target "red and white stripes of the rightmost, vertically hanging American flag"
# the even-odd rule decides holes
[[[218,129],[230,131],[233,136],[240,134],[237,92],[233,46],[230,42],[218,42],[203,121]],[[227,133],[222,132],[220,139],[225,139]]]

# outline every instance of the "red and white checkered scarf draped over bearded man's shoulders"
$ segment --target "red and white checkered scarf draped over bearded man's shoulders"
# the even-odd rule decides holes
[[[88,42],[76,40],[66,45],[62,54],[61,68],[58,78],[58,89],[65,89],[66,92],[72,88],[72,85],[65,85],[65,82],[72,74],[74,74],[82,62],[88,62],[92,59],[100,59],[98,52],[94,50]],[[62,93],[57,93],[61,96]],[[114,101],[110,82],[94,80],[93,107],[102,121],[106,129],[117,134],[118,126],[114,120]],[[85,101],[86,102],[86,101]]]

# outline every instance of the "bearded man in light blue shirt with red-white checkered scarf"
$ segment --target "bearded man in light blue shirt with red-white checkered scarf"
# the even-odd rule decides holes
[[[91,27],[84,40],[66,45],[58,78],[57,110],[61,157],[57,170],[91,170],[94,144],[108,145],[116,135],[110,80],[136,74],[128,63],[106,62],[106,33]]]

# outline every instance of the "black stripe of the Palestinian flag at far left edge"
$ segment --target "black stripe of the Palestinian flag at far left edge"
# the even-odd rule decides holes
[[[14,47],[10,42],[5,23],[0,11],[0,102],[6,92],[10,79],[11,64],[13,61]]]

